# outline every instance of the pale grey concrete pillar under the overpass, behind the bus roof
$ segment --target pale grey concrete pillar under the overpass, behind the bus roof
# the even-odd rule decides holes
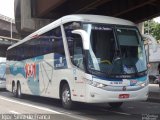
[[[48,19],[32,18],[31,0],[21,0],[21,30],[33,32],[50,23]]]

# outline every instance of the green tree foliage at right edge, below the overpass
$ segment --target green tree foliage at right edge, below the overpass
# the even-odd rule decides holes
[[[153,20],[145,21],[144,33],[151,34],[156,40],[160,40],[160,24]]]

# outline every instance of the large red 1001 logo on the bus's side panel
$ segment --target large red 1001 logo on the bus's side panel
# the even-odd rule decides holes
[[[34,77],[36,78],[36,64],[30,63],[25,65],[26,78]]]

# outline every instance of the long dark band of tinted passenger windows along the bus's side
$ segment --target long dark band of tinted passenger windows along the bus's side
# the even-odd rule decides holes
[[[49,53],[65,56],[60,27],[8,50],[7,59],[19,61]]]

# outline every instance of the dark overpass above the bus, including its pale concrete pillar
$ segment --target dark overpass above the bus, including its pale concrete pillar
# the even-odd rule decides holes
[[[140,23],[160,15],[160,1],[15,0],[16,27],[26,34],[68,14],[107,15]]]

